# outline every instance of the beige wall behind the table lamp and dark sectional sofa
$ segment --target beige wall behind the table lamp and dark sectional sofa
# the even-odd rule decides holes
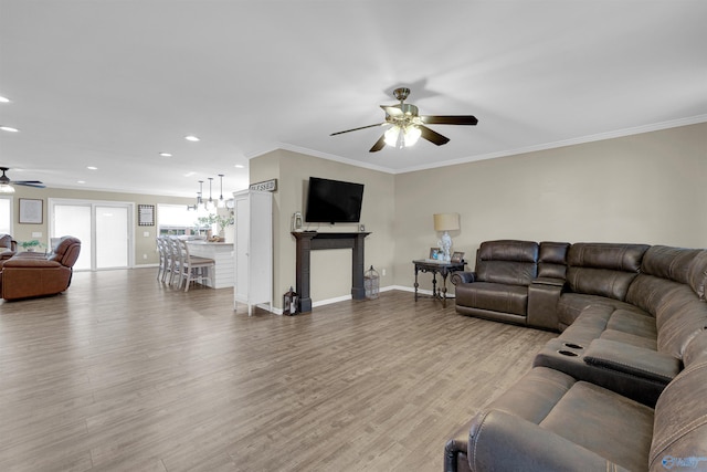
[[[454,250],[472,261],[494,239],[707,248],[707,124],[395,176],[397,285],[442,211],[461,214]]]

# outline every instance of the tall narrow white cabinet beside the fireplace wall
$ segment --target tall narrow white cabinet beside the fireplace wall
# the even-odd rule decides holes
[[[239,303],[267,303],[273,308],[273,195],[268,191],[233,192],[235,212],[235,280],[233,310]]]

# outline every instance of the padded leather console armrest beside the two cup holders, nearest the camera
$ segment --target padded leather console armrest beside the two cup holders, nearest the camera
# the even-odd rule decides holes
[[[680,371],[680,360],[657,350],[609,339],[594,339],[584,354],[592,366],[669,384]]]

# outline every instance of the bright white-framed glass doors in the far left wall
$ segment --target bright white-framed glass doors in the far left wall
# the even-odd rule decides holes
[[[81,254],[74,270],[127,269],[133,265],[133,203],[50,201],[52,238],[74,235]]]

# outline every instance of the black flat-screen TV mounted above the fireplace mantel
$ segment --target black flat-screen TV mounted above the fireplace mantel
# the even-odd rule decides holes
[[[358,223],[363,183],[309,177],[305,221],[309,223]]]

